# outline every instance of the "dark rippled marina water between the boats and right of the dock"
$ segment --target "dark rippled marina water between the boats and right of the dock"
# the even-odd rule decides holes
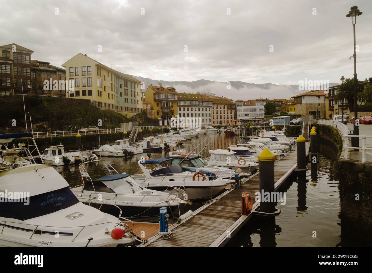
[[[209,158],[208,150],[227,149],[235,144],[238,137],[227,137],[224,134],[200,135],[187,141],[183,147],[187,152],[195,149],[204,159]],[[341,221],[339,218],[339,179],[337,172],[337,154],[334,150],[318,143],[317,181],[311,181],[310,163],[308,164],[307,182],[288,181],[280,190],[286,191],[286,204],[277,205],[282,210],[276,217],[274,226],[265,226],[257,217],[249,221],[231,238],[231,247],[336,247],[354,246],[353,240],[341,240]],[[202,150],[201,150],[202,149]],[[130,175],[141,173],[137,161],[141,156],[159,158],[167,157],[168,152],[143,153],[132,157],[101,157],[119,172]],[[81,177],[78,165],[55,167],[71,186],[79,185]],[[100,175],[96,164],[89,163],[88,171]],[[249,183],[246,182],[246,183]],[[187,206],[184,211],[195,210],[203,202]],[[347,223],[342,223],[347,224]],[[314,236],[315,231],[315,236]]]

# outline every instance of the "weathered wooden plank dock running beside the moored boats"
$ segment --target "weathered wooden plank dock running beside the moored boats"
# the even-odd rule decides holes
[[[306,142],[308,153],[310,143]],[[297,166],[296,146],[274,163],[275,190],[292,174]],[[253,175],[239,189],[231,189],[203,205],[179,224],[171,225],[173,235],[164,240],[159,235],[149,238],[140,247],[222,247],[253,216],[256,202],[249,215],[241,215],[241,193],[256,197],[260,189],[259,175]]]

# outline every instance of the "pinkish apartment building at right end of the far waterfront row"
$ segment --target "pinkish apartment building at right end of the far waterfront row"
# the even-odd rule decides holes
[[[211,98],[212,100],[212,125],[231,126],[237,124],[235,119],[235,103],[224,97]]]

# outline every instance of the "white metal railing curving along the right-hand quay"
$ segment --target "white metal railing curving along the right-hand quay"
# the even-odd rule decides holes
[[[347,126],[345,124],[343,124],[339,121],[335,121],[335,120],[317,120],[317,123],[332,126],[332,127],[336,128],[337,130],[340,131],[340,133],[344,137],[343,145],[344,145],[344,149],[345,149],[345,159],[348,159],[349,149],[359,149],[359,150],[362,150],[362,162],[367,161],[366,160],[366,151],[367,150],[372,150],[372,148],[366,147],[366,138],[367,137],[372,137],[372,136],[349,135],[349,129],[347,128]],[[362,146],[361,147],[352,147],[351,144],[350,144],[350,141],[349,141],[349,137],[358,137],[359,139],[362,139]]]

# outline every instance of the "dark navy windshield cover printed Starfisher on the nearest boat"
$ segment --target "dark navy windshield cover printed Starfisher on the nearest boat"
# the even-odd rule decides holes
[[[79,202],[68,187],[23,199],[0,197],[0,217],[25,221],[65,209]]]

